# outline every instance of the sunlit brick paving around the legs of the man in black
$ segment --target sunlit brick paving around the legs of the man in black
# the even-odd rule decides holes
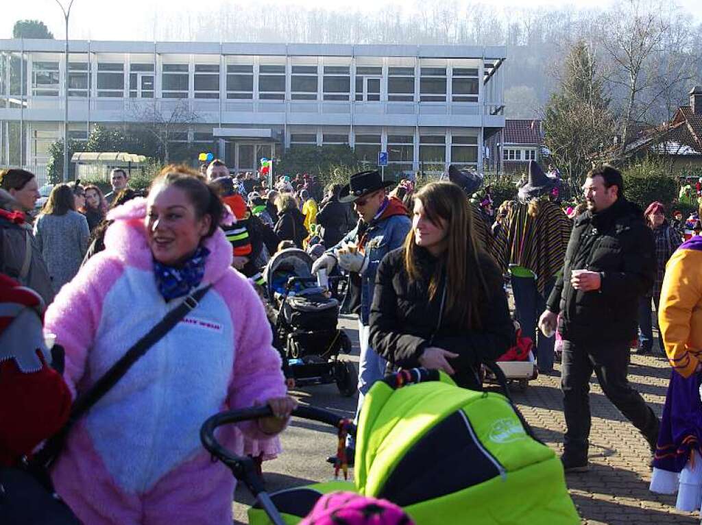
[[[660,417],[670,377],[668,362],[636,354],[631,361],[630,383]],[[514,397],[538,437],[562,453],[565,420],[559,385],[559,375],[541,376]],[[675,510],[675,496],[649,492],[648,444],[604,396],[595,376],[590,381],[590,411],[590,472],[567,475],[583,523],[698,524],[698,512]]]

